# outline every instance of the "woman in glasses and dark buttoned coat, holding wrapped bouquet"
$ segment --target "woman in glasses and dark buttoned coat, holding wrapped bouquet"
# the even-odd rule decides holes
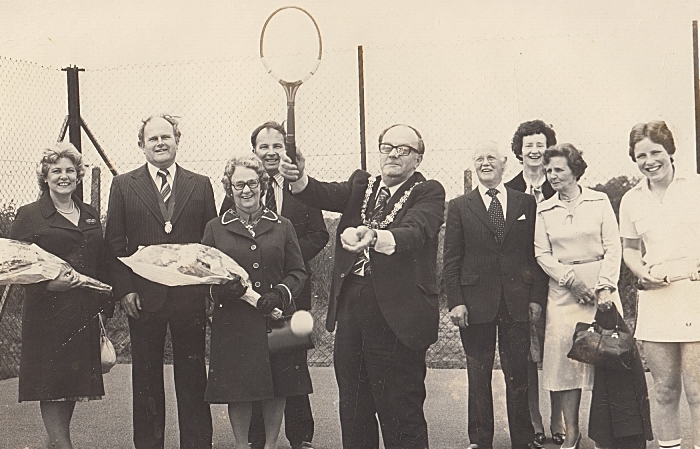
[[[267,320],[298,296],[306,281],[304,260],[289,220],[262,206],[268,175],[256,156],[233,158],[222,182],[234,206],[215,218],[202,243],[236,260],[262,296],[257,309],[223,292],[212,304],[209,380],[205,399],[227,403],[236,449],[248,448],[252,402],[261,401],[265,449],[275,449],[285,397],[311,393],[303,353],[269,355]],[[210,310],[211,310],[210,309]],[[297,357],[301,356],[301,359]]]

